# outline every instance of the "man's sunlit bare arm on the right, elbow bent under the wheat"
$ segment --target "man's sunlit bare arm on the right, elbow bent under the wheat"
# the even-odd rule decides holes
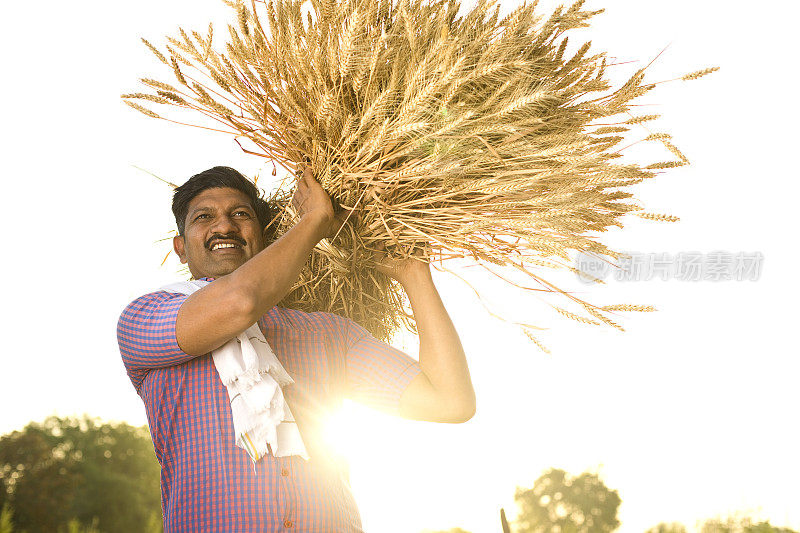
[[[433,283],[429,265],[416,259],[387,259],[379,269],[405,289],[419,332],[422,372],[400,397],[400,416],[466,422],[475,414],[475,391],[461,340]]]

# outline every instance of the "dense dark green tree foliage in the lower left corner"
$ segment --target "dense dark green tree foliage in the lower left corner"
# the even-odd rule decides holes
[[[143,427],[50,417],[0,437],[0,503],[28,533],[160,530],[159,471]]]

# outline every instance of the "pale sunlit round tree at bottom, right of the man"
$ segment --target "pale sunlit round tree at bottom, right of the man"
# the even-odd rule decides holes
[[[596,474],[570,477],[553,468],[533,488],[517,488],[514,499],[520,509],[518,533],[608,533],[619,527],[619,494]]]

